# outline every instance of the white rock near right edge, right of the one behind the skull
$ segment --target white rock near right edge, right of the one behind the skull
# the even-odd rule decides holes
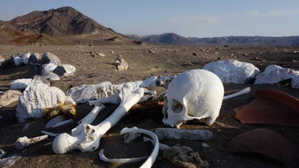
[[[299,71],[290,68],[282,68],[278,65],[269,65],[264,72],[256,76],[255,84],[275,84],[280,81],[294,78],[299,75]]]

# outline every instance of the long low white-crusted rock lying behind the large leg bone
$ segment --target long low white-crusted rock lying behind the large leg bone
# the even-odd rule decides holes
[[[130,82],[134,87],[157,86],[157,77],[151,76],[144,81]],[[111,84],[110,82],[102,82],[100,84],[85,84],[72,87],[66,91],[66,95],[70,96],[76,103],[86,103],[91,100],[105,98],[117,92],[123,87],[123,84]]]

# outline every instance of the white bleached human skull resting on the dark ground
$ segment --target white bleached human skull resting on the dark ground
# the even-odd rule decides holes
[[[224,88],[221,80],[203,69],[175,77],[164,96],[163,123],[180,126],[188,120],[204,119],[211,126],[219,115]]]

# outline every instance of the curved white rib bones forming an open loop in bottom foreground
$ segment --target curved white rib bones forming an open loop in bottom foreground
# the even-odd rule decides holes
[[[156,157],[159,152],[159,140],[158,137],[151,131],[145,130],[145,129],[139,129],[139,128],[124,128],[121,130],[121,134],[128,133],[128,132],[135,132],[135,133],[144,133],[149,135],[153,141],[154,141],[154,148],[149,155],[149,157],[140,157],[140,158],[128,158],[128,159],[107,159],[104,155],[104,150],[102,149],[99,152],[100,159],[105,161],[105,162],[114,162],[114,163],[133,163],[133,162],[138,162],[144,159],[147,159],[141,166],[140,168],[150,168],[154,161],[156,160]]]

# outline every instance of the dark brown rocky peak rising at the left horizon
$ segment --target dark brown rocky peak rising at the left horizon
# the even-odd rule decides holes
[[[7,22],[19,31],[43,33],[55,37],[87,36],[89,39],[90,37],[108,39],[119,35],[69,6],[48,11],[33,11]]]

